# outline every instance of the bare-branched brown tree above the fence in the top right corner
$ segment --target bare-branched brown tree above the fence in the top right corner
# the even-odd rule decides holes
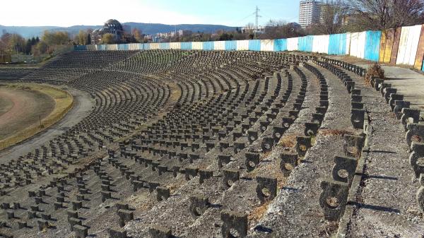
[[[363,30],[424,23],[424,0],[351,0],[345,6]]]

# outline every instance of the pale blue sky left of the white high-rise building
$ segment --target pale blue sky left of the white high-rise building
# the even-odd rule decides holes
[[[102,25],[121,22],[244,26],[270,19],[298,21],[300,0],[20,0],[1,1],[0,25]]]

